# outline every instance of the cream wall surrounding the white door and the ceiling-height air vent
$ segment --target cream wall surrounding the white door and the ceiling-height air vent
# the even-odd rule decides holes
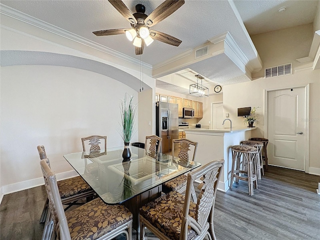
[[[264,79],[260,78],[223,86],[223,110],[229,112],[234,126],[243,126],[243,119],[237,117],[237,107],[261,106],[256,110],[259,117],[255,136],[264,136],[264,90],[305,86],[310,83],[309,95],[309,167],[320,174],[320,69],[312,70],[311,62],[299,63],[295,59],[305,57],[313,38],[312,24],[253,35],[252,41],[261,56],[263,69],[292,62],[292,75]],[[310,172],[311,172],[310,170]]]

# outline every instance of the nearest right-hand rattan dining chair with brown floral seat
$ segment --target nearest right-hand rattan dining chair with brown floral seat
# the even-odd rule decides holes
[[[216,240],[213,211],[223,163],[223,159],[211,161],[190,171],[185,195],[171,191],[142,206],[139,210],[140,239],[144,239],[146,227],[165,240],[201,240],[206,236]],[[197,185],[199,191],[194,189],[197,178],[202,180]]]

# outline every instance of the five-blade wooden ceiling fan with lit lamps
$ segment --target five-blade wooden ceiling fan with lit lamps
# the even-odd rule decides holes
[[[133,40],[136,55],[142,54],[144,43],[148,46],[153,39],[173,46],[178,46],[182,42],[174,36],[149,28],[176,11],[184,4],[184,0],[165,0],[149,15],[144,14],[145,6],[142,4],[137,4],[135,6],[136,12],[132,14],[122,0],[108,1],[130,22],[131,28],[99,30],[93,31],[93,34],[97,36],[107,36],[125,33],[130,41]]]

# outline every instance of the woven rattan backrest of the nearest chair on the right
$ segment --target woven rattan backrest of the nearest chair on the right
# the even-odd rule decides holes
[[[199,169],[190,171],[187,175],[187,183],[185,190],[185,200],[183,205],[183,218],[181,225],[180,239],[187,239],[187,229],[190,225],[196,232],[206,231],[209,227],[213,232],[213,211],[215,194],[219,178],[221,176],[221,169],[224,160],[210,161],[209,163],[201,166]],[[194,190],[195,179],[200,178],[202,182],[198,184],[199,193],[196,195]],[[192,196],[191,196],[192,195]],[[189,202],[193,199],[196,203],[195,218],[189,215]],[[214,234],[209,231],[210,234]],[[215,239],[211,235],[211,239]]]

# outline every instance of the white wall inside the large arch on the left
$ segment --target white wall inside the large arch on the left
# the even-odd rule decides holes
[[[3,193],[42,178],[37,145],[45,146],[55,173],[72,170],[62,155],[82,151],[83,136],[107,135],[108,147],[122,145],[117,129],[125,92],[137,102],[132,88],[94,72],[61,66],[1,67]],[[137,139],[136,133],[132,141]]]

